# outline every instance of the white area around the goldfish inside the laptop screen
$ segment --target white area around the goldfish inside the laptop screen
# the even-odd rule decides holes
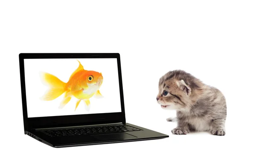
[[[59,109],[64,94],[52,101],[42,101],[40,98],[49,87],[41,82],[40,72],[50,73],[67,83],[71,74],[79,66],[79,62],[76,59],[25,59],[28,117],[121,112],[117,60],[115,58],[79,58],[79,61],[84,70],[102,73],[103,83],[99,90],[104,97],[90,98],[89,111],[85,109],[87,106],[83,101],[75,111],[78,99],[73,96],[64,108]]]

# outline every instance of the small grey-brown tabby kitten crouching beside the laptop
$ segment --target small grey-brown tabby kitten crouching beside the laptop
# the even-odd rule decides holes
[[[163,109],[177,110],[178,126],[172,134],[210,131],[213,135],[225,135],[227,106],[224,95],[183,70],[170,71],[160,78],[157,102]]]

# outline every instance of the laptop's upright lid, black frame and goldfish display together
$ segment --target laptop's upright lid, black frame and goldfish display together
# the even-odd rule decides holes
[[[125,123],[118,53],[21,53],[24,129]]]

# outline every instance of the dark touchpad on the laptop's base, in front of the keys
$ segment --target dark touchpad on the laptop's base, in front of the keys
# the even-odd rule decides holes
[[[110,141],[110,140],[128,140],[128,139],[136,139],[137,137],[126,134],[126,133],[113,133],[113,134],[100,134],[93,135],[98,140]]]

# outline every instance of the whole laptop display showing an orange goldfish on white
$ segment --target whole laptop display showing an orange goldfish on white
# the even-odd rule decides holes
[[[121,111],[116,58],[24,59],[28,118]]]

